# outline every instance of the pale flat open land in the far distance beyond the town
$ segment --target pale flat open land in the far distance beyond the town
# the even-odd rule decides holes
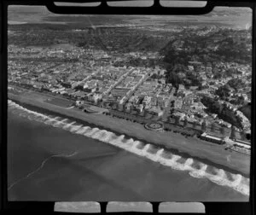
[[[90,20],[88,20],[90,17]],[[103,24],[121,24],[131,23],[135,25],[146,24],[148,26],[154,24],[172,24],[177,25],[200,25],[204,23],[214,25],[230,25],[241,26],[245,28],[247,24],[249,26],[252,22],[252,10],[244,8],[227,8],[218,7],[212,10],[207,15],[55,15],[43,6],[10,6],[8,20],[12,21],[24,21],[28,23],[39,22],[61,22],[63,23],[81,23],[84,22],[84,26],[87,25],[103,25]],[[90,23],[91,22],[91,23]]]

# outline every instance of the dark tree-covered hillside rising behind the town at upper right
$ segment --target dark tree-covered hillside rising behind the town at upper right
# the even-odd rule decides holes
[[[163,61],[166,62],[167,83],[200,85],[201,80],[193,75],[186,77],[189,79],[189,81],[186,81],[186,78],[184,79],[183,77],[178,76],[177,68],[180,68],[180,65],[182,65],[183,68],[181,70],[183,73],[185,73],[184,67],[189,65],[189,61],[201,61],[205,64],[205,66],[208,66],[207,64],[210,62],[212,65],[212,74],[214,78],[225,78],[229,77],[233,73],[236,73],[234,68],[230,68],[226,71],[226,73],[222,73],[218,71],[217,67],[214,67],[214,64],[215,62],[219,61],[237,63],[250,63],[252,61],[251,51],[247,49],[249,40],[236,42],[236,40],[233,39],[236,34],[240,33],[244,32],[229,32],[228,30],[222,30],[210,36],[204,37],[193,35],[193,37],[184,37],[182,40],[174,39],[170,41],[168,44],[166,44],[166,47],[160,50],[160,53],[165,55]],[[224,37],[222,36],[219,38],[219,35],[224,35]],[[216,39],[216,37],[218,39]],[[218,48],[209,49],[208,44]],[[233,85],[235,86],[236,84],[236,88],[242,87],[241,83],[238,83],[238,80],[236,80]],[[230,84],[231,87],[233,87],[233,85]],[[234,87],[234,89],[236,88]]]

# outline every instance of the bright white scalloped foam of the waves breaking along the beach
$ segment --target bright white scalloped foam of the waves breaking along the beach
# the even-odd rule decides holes
[[[10,107],[15,107],[18,109],[22,109],[22,111],[26,110],[27,113],[34,113],[36,116],[44,117],[44,114],[37,113],[30,111],[26,108],[21,107],[20,105],[17,105],[15,102],[9,101]],[[52,119],[55,121],[58,121],[58,118],[50,118],[45,116],[45,119]],[[45,122],[45,121],[44,121]],[[59,121],[61,122],[62,129],[79,134],[84,135],[85,137],[90,137],[97,139],[102,142],[107,142],[113,146],[116,146],[118,148],[125,149],[126,151],[131,152],[132,154],[137,154],[139,156],[148,158],[148,160],[152,160],[154,162],[158,162],[163,166],[171,167],[174,170],[178,171],[189,171],[189,175],[191,177],[196,178],[207,178],[208,180],[212,181],[212,183],[216,183],[221,186],[230,187],[231,189],[235,189],[236,191],[240,192],[243,195],[249,195],[249,186],[244,181],[249,181],[249,178],[242,177],[240,174],[231,174],[229,172],[226,172],[222,169],[216,169],[215,174],[207,172],[207,165],[200,163],[201,168],[196,169],[192,165],[194,162],[198,162],[197,160],[193,160],[191,158],[188,158],[185,160],[184,163],[179,163],[178,160],[180,160],[182,157],[177,154],[172,154],[170,152],[166,152],[164,148],[160,148],[156,153],[150,153],[148,150],[152,148],[152,145],[150,143],[146,144],[144,148],[139,149],[137,146],[141,144],[142,142],[135,141],[133,138],[125,139],[124,135],[116,136],[113,132],[106,131],[106,130],[100,130],[99,128],[91,128],[90,126],[82,126],[82,125],[73,125],[76,123],[76,121],[73,121],[72,123],[67,124],[65,120]],[[49,124],[50,125],[50,124]],[[52,124],[53,126],[55,124]],[[170,159],[163,157],[163,154],[169,154],[172,155]],[[231,177],[234,179],[233,181],[230,181],[227,177],[227,173],[231,174]]]

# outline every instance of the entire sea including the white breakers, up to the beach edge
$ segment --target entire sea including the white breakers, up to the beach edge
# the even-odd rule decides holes
[[[249,179],[9,101],[9,200],[247,201]]]

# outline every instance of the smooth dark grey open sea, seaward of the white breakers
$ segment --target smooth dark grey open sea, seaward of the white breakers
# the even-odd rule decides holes
[[[50,155],[75,151],[78,154],[48,160],[44,168],[9,190],[9,200],[248,201],[249,196],[237,192],[236,188],[221,186],[208,177],[193,177],[188,171],[161,166],[159,162],[113,144],[70,132],[62,126],[52,126],[55,123],[48,125],[37,117],[33,120],[33,115],[20,111],[20,108],[8,111],[9,152],[12,154],[9,170],[15,174],[9,177],[12,178],[9,185],[35,171]],[[46,112],[46,115],[49,114]],[[68,124],[73,120],[67,121]],[[207,172],[214,178],[214,169]],[[236,177],[225,173],[227,177],[222,180],[229,179],[233,183]],[[246,187],[247,182],[242,178],[239,188]]]

